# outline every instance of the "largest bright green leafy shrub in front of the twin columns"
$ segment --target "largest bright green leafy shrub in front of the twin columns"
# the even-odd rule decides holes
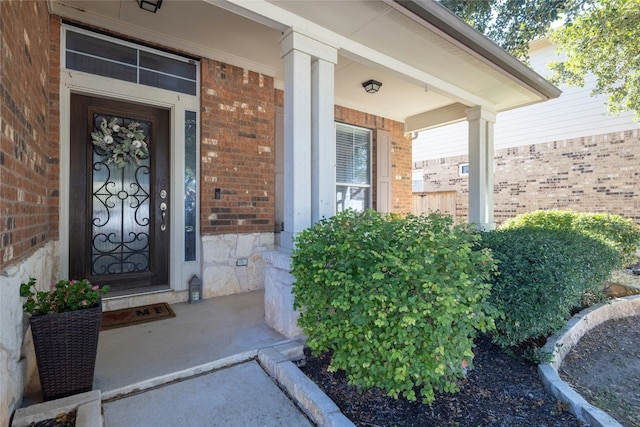
[[[298,324],[314,354],[351,384],[425,403],[457,391],[477,330],[493,327],[486,299],[495,265],[479,235],[450,216],[342,212],[300,233],[292,274]]]

